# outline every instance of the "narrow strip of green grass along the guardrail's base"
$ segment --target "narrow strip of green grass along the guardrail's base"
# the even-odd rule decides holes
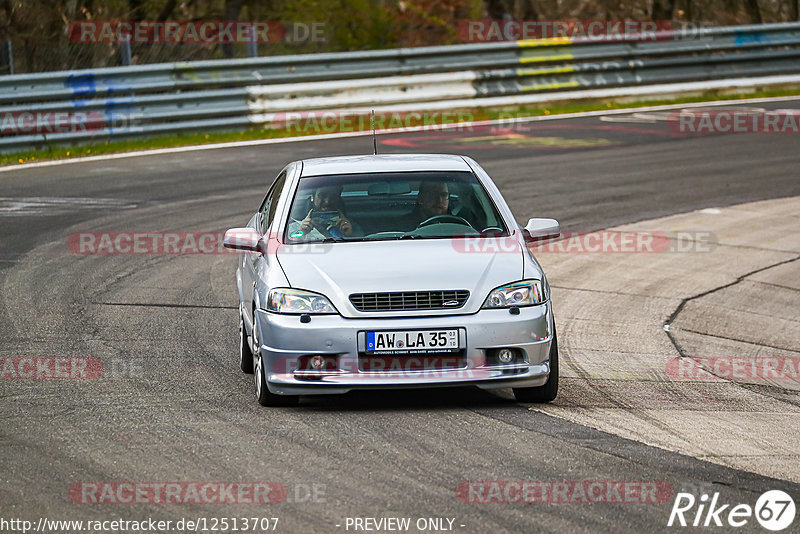
[[[542,104],[539,106],[519,106],[503,107],[498,109],[466,109],[461,110],[461,115],[465,120],[485,120],[514,117],[538,117],[543,115],[560,115],[564,113],[579,113],[583,111],[599,111],[635,108],[643,106],[658,106],[667,104],[685,104],[690,102],[713,102],[717,100],[734,100],[740,98],[763,98],[773,96],[800,96],[800,88],[775,89],[770,91],[754,91],[749,93],[724,93],[720,91],[707,92],[700,96],[687,96],[684,98],[660,99],[660,100],[641,100],[641,101],[610,101],[605,100],[581,100],[574,102],[557,102],[550,105]],[[364,128],[368,129],[369,121],[362,121]],[[254,127],[237,132],[209,132],[206,134],[173,134],[146,139],[135,139],[130,141],[111,141],[94,144],[85,144],[72,147],[51,147],[47,150],[34,150],[19,152],[14,154],[0,154],[0,165],[15,165],[36,161],[47,161],[54,159],[71,159],[86,156],[96,156],[100,154],[117,154],[123,152],[133,152],[139,150],[204,145],[211,143],[225,143],[232,141],[250,141],[254,139],[273,139],[279,137],[297,137],[303,135],[313,135],[318,133],[332,133],[333,129],[271,129]],[[348,130],[351,131],[351,130]]]

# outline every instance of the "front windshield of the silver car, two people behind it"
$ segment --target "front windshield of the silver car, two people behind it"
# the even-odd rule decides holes
[[[507,235],[471,172],[308,176],[292,202],[287,243]]]

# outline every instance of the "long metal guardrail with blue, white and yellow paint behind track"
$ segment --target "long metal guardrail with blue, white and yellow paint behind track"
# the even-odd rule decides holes
[[[241,129],[276,113],[800,73],[800,23],[0,76],[0,151]]]

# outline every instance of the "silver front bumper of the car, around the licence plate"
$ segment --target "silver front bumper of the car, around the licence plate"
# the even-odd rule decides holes
[[[296,315],[256,310],[258,338],[269,390],[282,395],[340,394],[354,389],[474,385],[483,389],[544,385],[550,374],[553,315],[550,302],[520,308],[481,310],[471,315],[345,318],[314,315],[302,323]],[[460,330],[457,368],[360,370],[364,336],[374,330]],[[520,362],[489,365],[487,351],[518,349]],[[335,369],[298,369],[303,356],[336,357]],[[442,355],[447,358],[447,355]],[[397,356],[414,358],[413,355]]]

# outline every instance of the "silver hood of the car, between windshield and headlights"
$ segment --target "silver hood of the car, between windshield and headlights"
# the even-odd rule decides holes
[[[489,291],[520,280],[522,247],[465,246],[463,239],[366,241],[287,245],[277,253],[289,284],[327,296],[345,317],[431,315],[430,310],[359,312],[352,293],[466,289],[461,308],[437,315],[477,312]]]

